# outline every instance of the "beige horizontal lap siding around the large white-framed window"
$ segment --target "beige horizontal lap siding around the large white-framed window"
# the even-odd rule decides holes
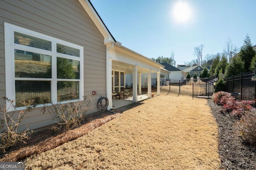
[[[0,97],[5,93],[4,22],[27,28],[84,47],[84,95],[96,111],[101,95],[106,95],[106,45],[104,37],[78,0],[0,0]],[[92,96],[92,91],[97,95]],[[5,103],[0,101],[0,105]],[[24,124],[30,129],[52,124],[48,114],[34,109]]]

